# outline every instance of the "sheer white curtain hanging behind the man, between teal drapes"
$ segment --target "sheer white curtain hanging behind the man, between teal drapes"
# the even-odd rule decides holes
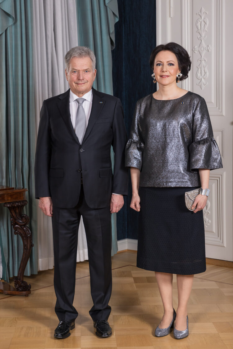
[[[44,99],[68,89],[64,56],[71,47],[78,46],[76,13],[75,0],[33,1],[36,134]],[[81,219],[77,262],[86,259],[87,241]],[[52,268],[52,222],[38,209],[38,269]]]

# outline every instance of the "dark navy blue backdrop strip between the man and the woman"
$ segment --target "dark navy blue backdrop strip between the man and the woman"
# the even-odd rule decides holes
[[[156,90],[149,65],[151,51],[156,46],[156,0],[118,0],[118,12],[116,46],[112,51],[113,94],[123,104],[129,137],[135,103]],[[138,236],[138,214],[130,208],[131,197],[129,180],[128,197],[117,214],[118,240]]]

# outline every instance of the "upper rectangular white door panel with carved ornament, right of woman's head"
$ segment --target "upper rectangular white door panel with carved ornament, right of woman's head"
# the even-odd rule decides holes
[[[192,44],[192,63],[197,67],[192,89],[205,98],[210,116],[224,116],[225,0],[195,0],[192,6],[192,30],[199,40],[197,44],[194,38]]]

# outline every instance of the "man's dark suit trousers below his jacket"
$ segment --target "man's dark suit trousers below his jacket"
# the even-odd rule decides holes
[[[73,300],[81,215],[87,237],[90,289],[94,303],[89,313],[96,321],[107,320],[111,311],[108,305],[112,289],[110,207],[88,207],[81,186],[76,207],[53,207],[55,312],[59,321],[74,321],[78,316]]]

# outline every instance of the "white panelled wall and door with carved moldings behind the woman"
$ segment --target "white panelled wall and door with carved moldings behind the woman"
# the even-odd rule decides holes
[[[157,45],[174,41],[190,54],[186,90],[204,97],[223,169],[210,173],[203,211],[206,256],[233,261],[232,0],[157,0]]]

